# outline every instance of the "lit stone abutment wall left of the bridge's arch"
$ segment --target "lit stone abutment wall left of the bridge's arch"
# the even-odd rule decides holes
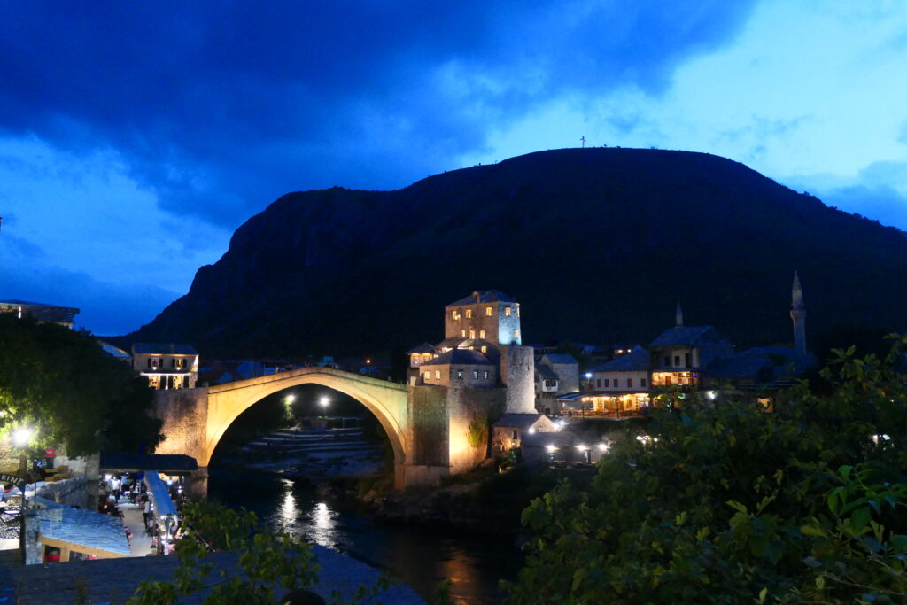
[[[156,391],[154,397],[154,415],[163,421],[164,435],[155,454],[188,454],[200,460],[208,430],[208,389]]]

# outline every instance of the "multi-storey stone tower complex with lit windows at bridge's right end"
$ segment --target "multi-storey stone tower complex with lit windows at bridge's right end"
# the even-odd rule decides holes
[[[414,415],[407,484],[468,471],[488,457],[495,440],[496,448],[509,449],[519,447],[525,431],[556,430],[535,411],[535,359],[532,347],[522,346],[514,298],[476,291],[447,305],[444,340],[407,354]]]

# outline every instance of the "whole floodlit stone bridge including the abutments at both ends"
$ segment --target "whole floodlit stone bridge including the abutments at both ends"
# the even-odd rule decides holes
[[[532,358],[532,357],[530,357]],[[188,454],[199,463],[195,493],[207,492],[207,467],[220,438],[240,414],[291,386],[323,385],[365,405],[384,427],[394,449],[394,484],[436,484],[463,473],[488,455],[488,435],[473,427],[504,409],[506,389],[398,385],[327,367],[306,367],[271,376],[192,389],[156,392],[155,415],[164,441],[157,454]]]

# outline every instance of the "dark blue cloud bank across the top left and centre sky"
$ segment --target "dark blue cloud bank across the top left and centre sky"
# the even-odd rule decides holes
[[[167,210],[235,226],[287,190],[391,188],[570,93],[662,92],[752,2],[28,2],[0,130],[112,147]]]

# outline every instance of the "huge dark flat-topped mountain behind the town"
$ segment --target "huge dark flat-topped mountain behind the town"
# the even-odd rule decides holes
[[[205,355],[375,354],[443,337],[474,289],[522,302],[527,342],[646,342],[712,324],[737,345],[839,321],[904,325],[907,237],[702,153],[543,151],[403,190],[290,193],[237,229],[132,340]]]

